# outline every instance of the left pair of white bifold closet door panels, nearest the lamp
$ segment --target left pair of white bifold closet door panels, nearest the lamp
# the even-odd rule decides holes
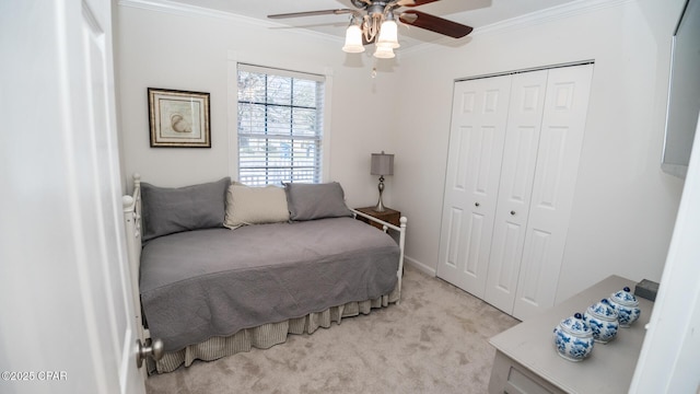
[[[511,77],[455,83],[438,276],[483,297]]]

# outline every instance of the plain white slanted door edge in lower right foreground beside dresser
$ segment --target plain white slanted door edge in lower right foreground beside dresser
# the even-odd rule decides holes
[[[700,393],[700,367],[697,361],[700,352],[698,201],[700,113],[668,256],[630,393]]]

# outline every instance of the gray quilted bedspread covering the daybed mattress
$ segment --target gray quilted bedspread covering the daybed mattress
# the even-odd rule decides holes
[[[399,250],[352,218],[188,231],[148,242],[140,292],[165,351],[389,293]]]

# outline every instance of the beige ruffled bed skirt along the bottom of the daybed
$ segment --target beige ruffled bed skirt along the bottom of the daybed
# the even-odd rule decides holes
[[[241,351],[250,351],[253,347],[267,349],[287,341],[289,334],[313,334],[319,327],[329,328],[332,322],[340,324],[342,317],[357,316],[361,313],[370,314],[372,309],[386,308],[398,299],[397,287],[389,294],[373,300],[348,302],[302,317],[244,328],[228,337],[212,337],[182,350],[166,352],[159,361],[153,362],[149,359],[149,374],[172,372],[182,364],[191,366],[197,359],[212,361]]]

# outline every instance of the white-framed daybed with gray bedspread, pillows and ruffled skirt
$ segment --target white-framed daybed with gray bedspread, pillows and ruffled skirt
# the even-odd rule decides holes
[[[136,317],[142,339],[165,350],[149,372],[269,348],[398,303],[406,218],[396,227],[343,198],[337,183],[162,188],[135,175],[124,209]]]

